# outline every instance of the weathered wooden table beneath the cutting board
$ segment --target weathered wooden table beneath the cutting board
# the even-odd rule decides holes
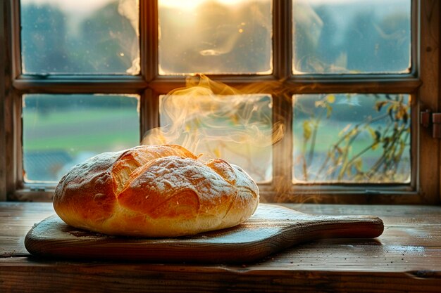
[[[308,214],[373,215],[376,239],[297,245],[256,263],[201,265],[38,259],[28,230],[50,203],[0,203],[0,292],[441,292],[441,207],[285,204]]]

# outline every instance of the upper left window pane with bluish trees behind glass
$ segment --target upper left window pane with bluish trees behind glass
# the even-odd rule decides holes
[[[137,0],[21,0],[22,69],[139,74]]]

